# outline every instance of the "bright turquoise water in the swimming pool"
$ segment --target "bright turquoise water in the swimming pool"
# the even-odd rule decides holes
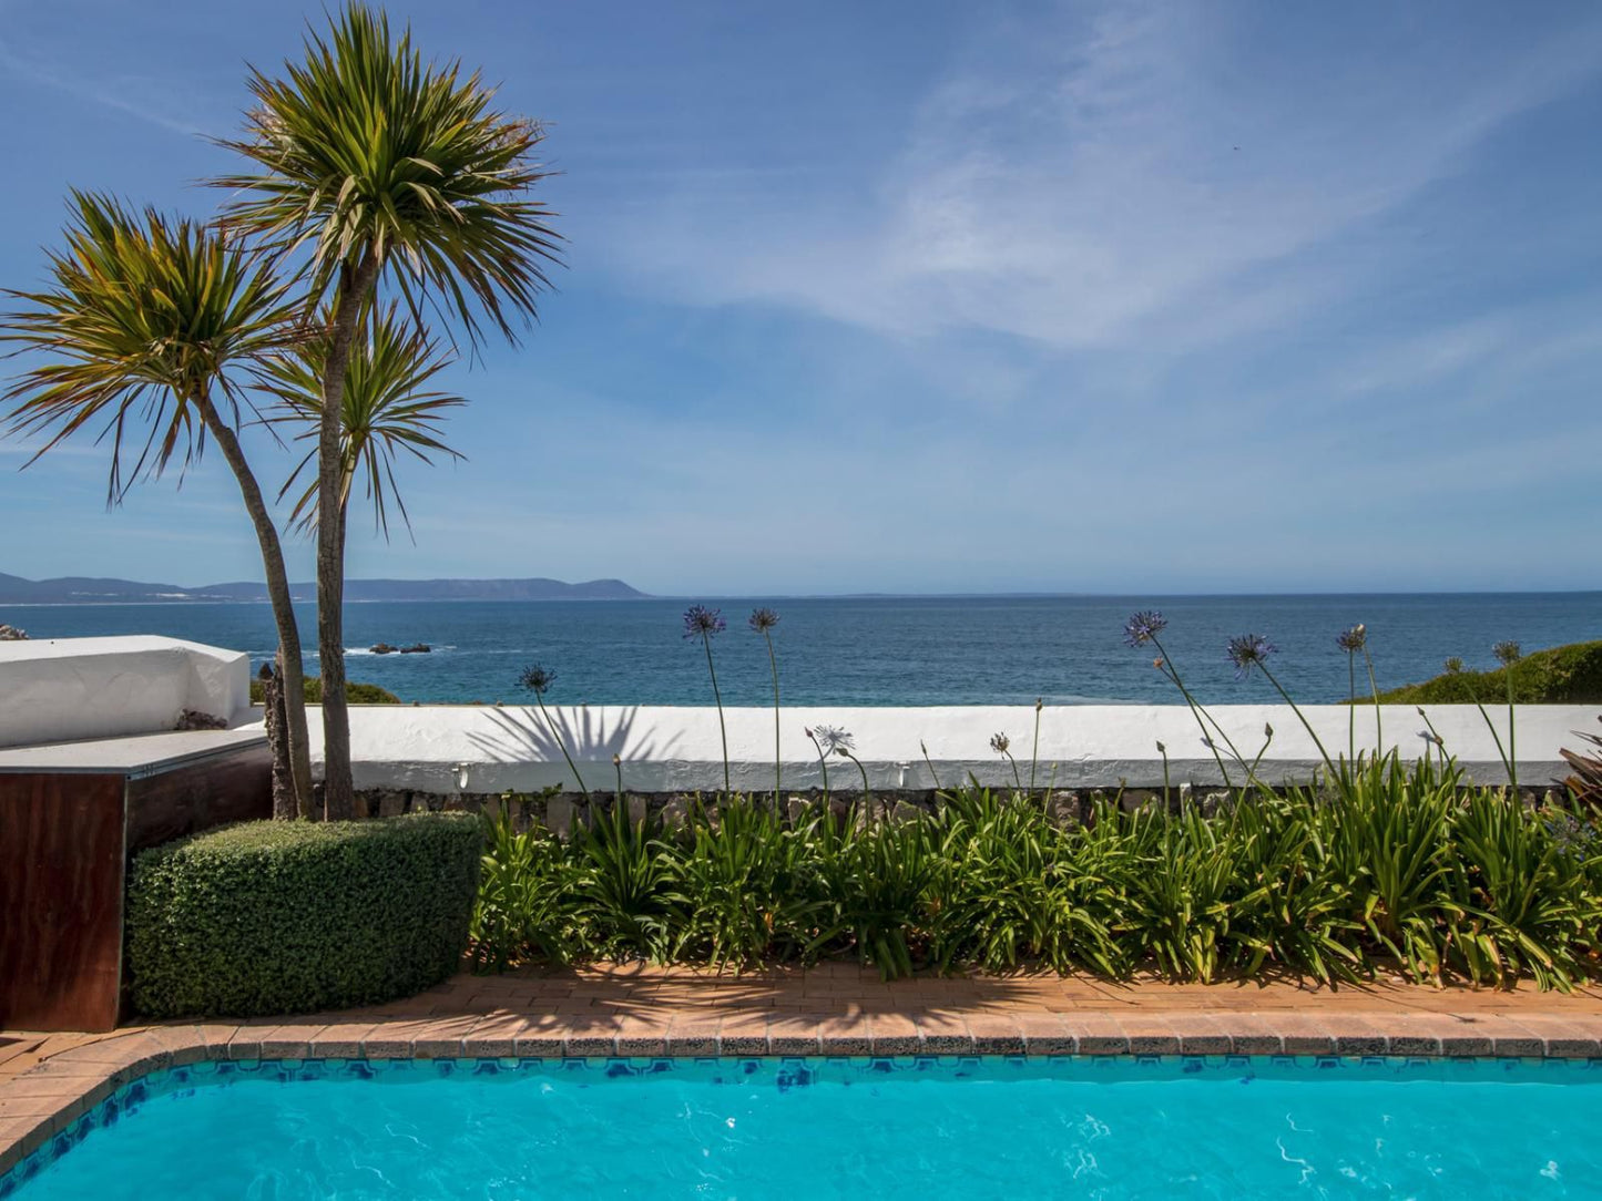
[[[0,1196],[1596,1198],[1602,1060],[200,1065]]]

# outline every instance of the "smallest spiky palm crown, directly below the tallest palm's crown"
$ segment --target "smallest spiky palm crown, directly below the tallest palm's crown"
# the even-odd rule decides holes
[[[423,463],[433,463],[433,455],[461,458],[441,440],[439,426],[444,410],[466,400],[428,389],[429,380],[450,362],[433,338],[404,320],[394,304],[388,311],[373,307],[370,312],[365,336],[351,349],[344,375],[340,509],[349,516],[351,488],[359,477],[365,477],[373,525],[388,538],[391,504],[407,530],[412,528],[396,485],[396,458],[402,453]],[[317,460],[316,444],[322,429],[324,357],[320,343],[308,343],[293,352],[272,355],[261,373],[263,388],[279,399],[279,410],[266,418],[268,423],[300,429],[293,440],[312,444],[279,492],[279,500],[284,500],[300,485],[290,520],[303,530],[317,528],[317,474],[308,472],[308,468]],[[308,474],[309,482],[301,484]]]

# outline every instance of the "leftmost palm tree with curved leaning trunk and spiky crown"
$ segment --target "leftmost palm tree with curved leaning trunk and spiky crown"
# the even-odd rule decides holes
[[[277,817],[311,812],[311,754],[301,645],[284,552],[261,487],[239,445],[237,373],[296,338],[296,307],[272,266],[221,231],[131,211],[74,192],[66,250],[50,251],[46,291],[6,291],[22,307],[0,315],[0,341],[37,357],[6,388],[10,432],[45,436],[29,463],[85,428],[111,440],[107,504],[173,460],[181,469],[216,440],[256,528],[279,631],[292,797]],[[143,445],[139,439],[143,437]],[[136,453],[123,468],[125,450]]]

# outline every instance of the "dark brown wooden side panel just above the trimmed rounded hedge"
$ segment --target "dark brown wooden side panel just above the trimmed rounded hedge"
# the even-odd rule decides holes
[[[128,781],[128,855],[229,821],[272,817],[266,743]]]

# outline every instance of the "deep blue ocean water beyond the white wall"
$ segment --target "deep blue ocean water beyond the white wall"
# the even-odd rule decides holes
[[[1491,645],[1525,650],[1602,637],[1602,592],[1461,596],[979,597],[716,600],[714,644],[726,705],[771,705],[767,652],[745,626],[753,604],[782,615],[774,634],[782,697],[795,705],[1030,705],[1174,701],[1149,650],[1123,645],[1136,609],[1160,609],[1165,645],[1203,701],[1272,700],[1262,679],[1237,682],[1229,637],[1266,634],[1272,666],[1296,700],[1347,695],[1334,636],[1363,621],[1379,687],[1429,679],[1448,655],[1495,666]],[[708,705],[698,642],[682,637],[682,600],[392,602],[346,609],[351,679],[402,700],[514,701],[529,663],[556,673],[551,700],[593,705]],[[268,658],[264,604],[0,607],[34,637],[167,634]],[[316,612],[300,613],[316,645]],[[428,642],[429,655],[368,655],[376,642]],[[314,658],[308,671],[316,673]],[[1360,687],[1365,681],[1360,677]]]

